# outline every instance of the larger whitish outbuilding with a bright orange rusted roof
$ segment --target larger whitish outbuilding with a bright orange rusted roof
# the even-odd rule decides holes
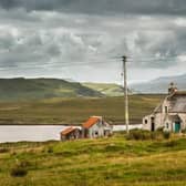
[[[91,116],[82,125],[82,135],[87,138],[110,136],[113,127],[102,116]]]

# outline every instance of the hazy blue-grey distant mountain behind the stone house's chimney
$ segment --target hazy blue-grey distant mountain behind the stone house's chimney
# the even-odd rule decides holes
[[[158,78],[146,83],[132,84],[130,87],[138,93],[167,93],[170,82],[174,82],[178,90],[186,90],[186,74]]]

